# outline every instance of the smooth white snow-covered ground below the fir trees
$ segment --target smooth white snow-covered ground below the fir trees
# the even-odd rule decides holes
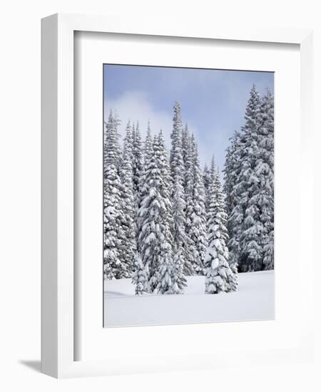
[[[223,294],[204,294],[204,277],[188,277],[183,295],[136,296],[131,279],[106,281],[104,326],[274,319],[274,272],[238,277],[238,292]]]

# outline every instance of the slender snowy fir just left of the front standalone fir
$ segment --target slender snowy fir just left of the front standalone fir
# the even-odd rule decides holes
[[[198,147],[192,136],[188,156],[186,179],[186,234],[188,251],[195,274],[203,274],[207,242],[205,188]]]

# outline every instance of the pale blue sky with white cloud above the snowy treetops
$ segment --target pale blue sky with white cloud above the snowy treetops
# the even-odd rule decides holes
[[[169,148],[178,100],[183,122],[198,141],[202,166],[214,154],[220,169],[230,136],[244,123],[253,83],[261,94],[267,87],[274,91],[274,73],[267,72],[117,65],[105,65],[103,72],[105,117],[117,111],[121,135],[131,120],[140,123],[145,138],[149,119],[153,133],[163,130]]]

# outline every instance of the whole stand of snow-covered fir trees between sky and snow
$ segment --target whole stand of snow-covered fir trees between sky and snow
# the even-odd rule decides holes
[[[214,158],[200,167],[198,144],[173,107],[171,147],[162,130],[145,140],[112,112],[104,128],[103,272],[131,278],[136,294],[183,294],[186,277],[205,292],[235,291],[237,272],[273,269],[273,97],[253,87],[245,125],[226,151],[224,183]]]

